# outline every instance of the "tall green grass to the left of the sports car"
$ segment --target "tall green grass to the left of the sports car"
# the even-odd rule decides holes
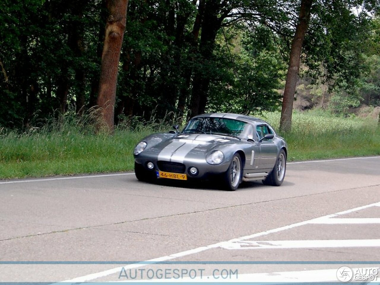
[[[108,135],[95,132],[92,117],[58,117],[21,134],[0,129],[0,179],[132,170],[139,140],[171,129],[135,118]]]

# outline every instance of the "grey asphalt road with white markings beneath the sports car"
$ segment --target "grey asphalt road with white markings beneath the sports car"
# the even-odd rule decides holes
[[[379,264],[380,157],[289,163],[281,187],[236,192],[133,173],[0,180],[0,282],[336,281]]]

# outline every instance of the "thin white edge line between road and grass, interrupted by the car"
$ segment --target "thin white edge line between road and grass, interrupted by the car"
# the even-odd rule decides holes
[[[296,161],[288,162],[287,164],[298,163],[315,163],[315,162],[327,162],[327,161],[340,161],[340,160],[353,160],[353,159],[367,159],[367,158],[380,158],[380,156],[373,157],[353,157],[353,158],[337,158],[329,160],[308,160],[308,161]],[[87,175],[87,176],[70,176],[70,177],[52,177],[52,178],[37,178],[27,180],[12,180],[12,181],[0,181],[0,184],[12,184],[12,183],[27,183],[27,182],[39,182],[39,181],[53,181],[53,180],[67,180],[67,179],[80,179],[80,178],[93,178],[93,177],[107,177],[107,176],[120,176],[120,175],[132,175],[135,173],[113,173],[113,174],[99,174],[99,175]],[[380,203],[378,205],[380,207]]]

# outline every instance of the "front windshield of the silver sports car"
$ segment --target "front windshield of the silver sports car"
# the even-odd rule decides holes
[[[248,123],[220,118],[220,117],[199,117],[191,119],[182,133],[204,133],[214,135],[226,135],[236,138],[244,137],[243,133],[247,130]]]

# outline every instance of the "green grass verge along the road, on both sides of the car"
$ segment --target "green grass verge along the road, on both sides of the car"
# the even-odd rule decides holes
[[[278,129],[278,112],[262,117]],[[0,130],[0,179],[132,170],[136,143],[170,129],[160,123],[136,126],[120,126],[113,136],[93,135],[90,123],[75,120],[47,123],[23,134]],[[295,112],[292,131],[280,135],[288,142],[290,161],[380,155],[375,120]]]

